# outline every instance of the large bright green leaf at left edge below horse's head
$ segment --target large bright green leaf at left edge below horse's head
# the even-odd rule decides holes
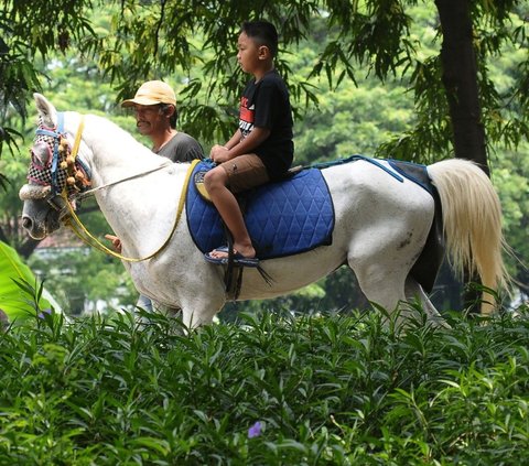
[[[50,301],[39,295],[33,272],[13,248],[0,241],[0,308],[10,321],[26,318],[35,315],[36,310],[51,308]]]

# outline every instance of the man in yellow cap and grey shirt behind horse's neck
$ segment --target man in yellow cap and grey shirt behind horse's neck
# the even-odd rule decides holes
[[[203,159],[201,144],[182,131],[176,131],[176,96],[168,84],[161,80],[143,83],[133,99],[121,102],[121,107],[132,107],[136,126],[141,134],[152,141],[152,151],[173,162],[191,162]]]

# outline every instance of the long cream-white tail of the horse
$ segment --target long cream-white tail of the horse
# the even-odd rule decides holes
[[[482,284],[498,291],[510,278],[503,251],[501,205],[490,180],[474,162],[450,159],[428,166],[443,209],[449,261],[462,278],[477,272]],[[486,291],[482,313],[489,314],[495,302]]]

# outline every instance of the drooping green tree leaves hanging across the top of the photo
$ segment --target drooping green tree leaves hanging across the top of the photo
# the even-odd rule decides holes
[[[419,4],[418,4],[419,3]],[[492,143],[516,145],[528,136],[526,0],[468,2],[472,8],[475,52],[484,123]],[[105,8],[104,18],[99,11]],[[57,14],[50,20],[50,11]],[[433,2],[367,0],[363,2],[311,0],[222,1],[204,3],[137,0],[55,0],[4,2],[0,28],[0,96],[25,115],[29,89],[40,88],[35,67],[51,52],[74,51],[89,68],[104,74],[117,89],[117,100],[130,96],[148,78],[182,76],[184,120],[194,136],[213,140],[233,132],[231,113],[246,77],[235,61],[235,44],[242,21],[264,18],[281,31],[278,68],[289,82],[301,115],[302,102],[314,105],[312,78],[323,77],[330,88],[357,85],[366,69],[377,79],[397,77],[414,95],[418,120],[386,149],[424,160],[451,152],[452,123],[441,82],[439,47],[424,54],[432,39],[441,41]],[[417,24],[428,22],[417,32]],[[30,31],[30,33],[28,33]],[[438,35],[436,35],[438,34]],[[292,54],[306,37],[321,46],[306,73],[296,75]],[[519,52],[512,86],[501,89],[489,66],[506,47]],[[3,94],[1,93],[3,91]],[[204,121],[212,124],[204,124]],[[1,132],[14,141],[12,130]],[[11,145],[10,145],[11,147]]]

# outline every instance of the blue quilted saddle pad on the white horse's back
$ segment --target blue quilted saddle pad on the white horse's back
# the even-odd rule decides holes
[[[220,216],[198,193],[194,180],[213,165],[196,165],[186,195],[187,226],[202,252],[226,245]],[[197,176],[198,175],[198,176]],[[245,223],[259,259],[295,254],[331,245],[334,206],[320,170],[303,170],[289,180],[238,195]]]

